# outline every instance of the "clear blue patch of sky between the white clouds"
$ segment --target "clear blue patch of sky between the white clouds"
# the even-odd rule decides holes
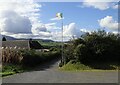
[[[95,30],[101,28],[98,20],[106,16],[112,16],[115,20],[118,18],[118,9],[98,10],[92,7],[82,7],[82,2],[45,2],[42,4],[40,19],[43,23],[56,22],[50,19],[55,17],[56,13],[61,12],[65,18],[64,25],[74,22],[78,28]],[[60,21],[57,21],[57,26],[60,26],[59,23]]]

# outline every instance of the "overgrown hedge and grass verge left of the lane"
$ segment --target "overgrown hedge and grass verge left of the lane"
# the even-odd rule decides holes
[[[48,52],[41,50],[2,49],[2,76],[30,70],[43,62],[59,58],[60,50],[51,48]]]

